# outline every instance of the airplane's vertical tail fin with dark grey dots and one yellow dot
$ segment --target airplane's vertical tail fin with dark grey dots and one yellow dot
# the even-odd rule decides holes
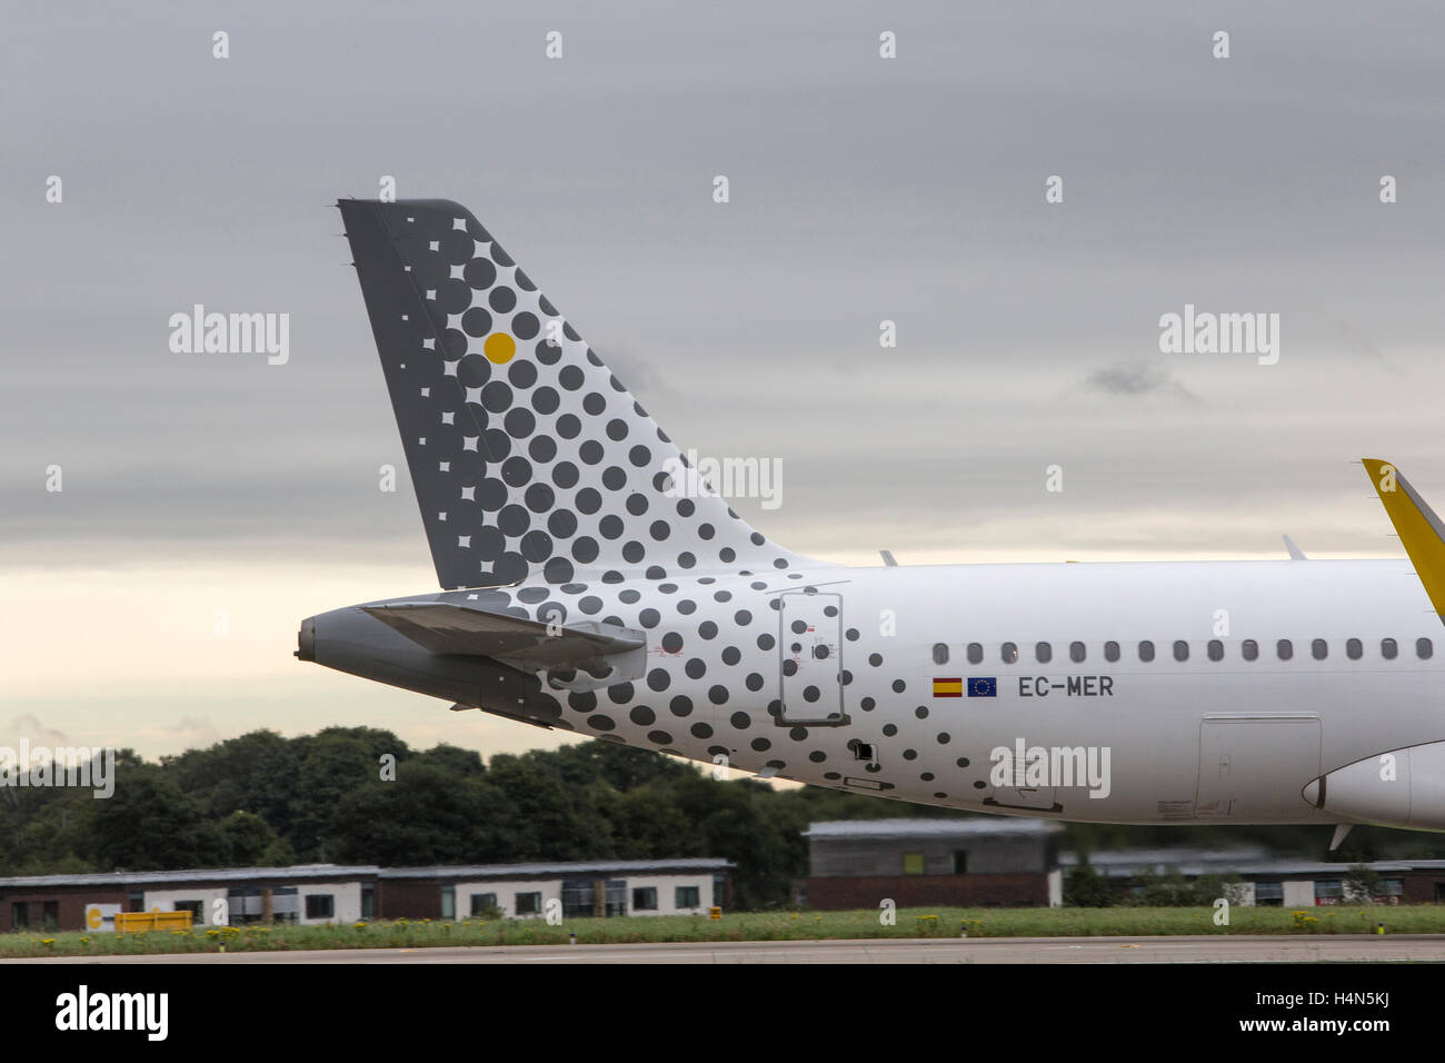
[[[471,211],[337,204],[445,589],[816,564],[686,458]]]

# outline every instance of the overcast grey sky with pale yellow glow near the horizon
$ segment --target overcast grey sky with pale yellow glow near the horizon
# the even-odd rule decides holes
[[[1361,456],[1445,502],[1438,4],[604,7],[7,12],[0,743],[553,742],[290,657],[435,587],[331,205],[383,175],[682,447],[780,461],[737,508],[803,554],[1397,555]],[[194,304],[289,314],[289,362],[172,353]],[[1279,314],[1277,364],[1162,354],[1185,304]]]

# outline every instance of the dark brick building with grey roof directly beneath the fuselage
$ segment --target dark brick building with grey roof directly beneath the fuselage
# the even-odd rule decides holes
[[[1001,816],[811,823],[808,878],[795,900],[818,910],[1058,907],[1064,876],[1049,820]]]

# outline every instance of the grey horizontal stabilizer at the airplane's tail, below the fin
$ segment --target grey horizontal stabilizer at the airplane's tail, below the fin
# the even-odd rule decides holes
[[[566,665],[626,654],[644,645],[640,632],[595,620],[558,628],[441,602],[363,607],[434,654]]]

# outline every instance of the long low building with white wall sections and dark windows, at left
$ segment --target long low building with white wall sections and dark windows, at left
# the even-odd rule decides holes
[[[0,933],[114,930],[121,911],[189,911],[195,924],[355,923],[473,915],[672,915],[730,907],[717,859],[376,868],[146,871],[0,878]]]

